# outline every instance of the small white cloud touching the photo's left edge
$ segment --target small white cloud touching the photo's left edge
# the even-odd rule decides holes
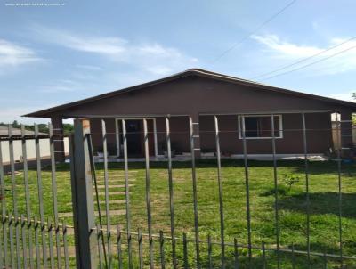
[[[0,39],[0,68],[17,67],[33,61],[41,60],[28,47]]]

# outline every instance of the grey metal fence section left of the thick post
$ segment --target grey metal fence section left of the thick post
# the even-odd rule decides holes
[[[13,135],[9,125],[8,135],[1,139],[8,143],[10,161],[3,162],[1,152],[6,149],[0,148],[0,267],[69,268],[68,227],[64,220],[60,223],[58,216],[54,159],[54,143],[58,138],[53,135],[53,127],[49,125],[49,135],[44,135],[35,125],[34,135],[28,135],[21,126],[21,135]],[[35,152],[29,155],[34,153],[36,158],[28,159],[27,143],[33,139]],[[14,158],[13,144],[18,141],[22,145],[21,162]],[[49,143],[50,157],[43,159],[40,145],[44,142]]]

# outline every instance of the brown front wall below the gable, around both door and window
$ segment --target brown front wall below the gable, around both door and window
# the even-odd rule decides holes
[[[166,145],[166,121],[165,118],[157,118],[158,154],[164,153]],[[106,120],[109,149],[116,149],[115,121],[113,118]],[[226,154],[242,154],[242,140],[239,139],[238,117],[218,116],[220,130],[221,151]],[[333,147],[331,118],[329,113],[306,114],[307,150],[308,153],[325,153]],[[93,145],[95,149],[101,147],[101,120],[91,119]],[[202,152],[215,151],[214,117],[200,116],[200,146]],[[301,114],[282,115],[283,138],[276,139],[276,151],[278,154],[302,154],[303,153],[303,124]],[[190,152],[189,121],[188,117],[170,118],[172,149],[177,154]],[[151,128],[149,131],[151,132]],[[153,137],[150,135],[150,155],[154,155]],[[142,136],[143,143],[143,136]],[[128,145],[130,146],[130,145]],[[247,153],[271,154],[271,139],[247,140]]]

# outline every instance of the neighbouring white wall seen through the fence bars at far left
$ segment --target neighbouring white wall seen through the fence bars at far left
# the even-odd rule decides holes
[[[40,148],[41,158],[49,157],[51,155],[50,140],[48,138],[40,139],[39,148]],[[2,153],[3,153],[3,162],[4,163],[9,162],[10,161],[9,142],[2,141],[1,149],[2,149]],[[36,158],[35,139],[28,139],[26,141],[26,149],[27,149],[28,159],[35,159]],[[69,139],[68,139],[68,137],[64,137],[64,151],[66,154],[69,154]],[[13,155],[14,155],[15,161],[18,161],[21,159],[22,143],[20,140],[13,141]]]

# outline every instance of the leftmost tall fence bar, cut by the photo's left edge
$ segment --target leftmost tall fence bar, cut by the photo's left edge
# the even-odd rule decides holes
[[[0,140],[0,188],[1,188],[1,214],[2,214],[2,225],[3,225],[3,256],[4,256],[4,266],[9,266],[8,252],[7,252],[7,227],[6,227],[6,193],[5,193],[5,180],[4,180],[4,163],[3,163],[3,149],[2,142]]]

